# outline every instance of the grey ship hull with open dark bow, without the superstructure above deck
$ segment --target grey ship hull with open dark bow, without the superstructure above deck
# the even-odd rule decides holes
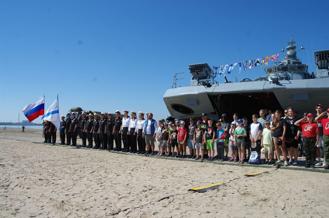
[[[167,109],[175,119],[198,117],[207,113],[218,119],[222,113],[230,117],[250,118],[260,109],[286,109],[293,107],[297,115],[315,112],[316,104],[329,107],[329,78],[282,80],[277,84],[270,81],[190,86],[169,89],[164,94]],[[249,122],[250,122],[249,121]]]

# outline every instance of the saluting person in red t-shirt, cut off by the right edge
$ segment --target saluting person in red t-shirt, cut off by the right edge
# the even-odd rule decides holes
[[[327,117],[323,117],[327,113]],[[323,151],[324,151],[324,160],[326,162],[325,169],[329,169],[329,108],[327,111],[324,111],[318,115],[315,122],[321,123],[323,127]]]

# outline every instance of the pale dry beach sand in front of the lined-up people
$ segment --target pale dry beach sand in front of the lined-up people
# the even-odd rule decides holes
[[[6,135],[11,136],[18,137]],[[24,137],[39,140],[40,134]],[[0,149],[1,217],[106,217],[125,208],[130,209],[115,216],[328,216],[329,173],[266,168],[269,173],[245,177],[264,168],[68,149],[3,138]],[[188,193],[189,188],[216,182],[227,186]],[[174,196],[156,201],[169,195]]]

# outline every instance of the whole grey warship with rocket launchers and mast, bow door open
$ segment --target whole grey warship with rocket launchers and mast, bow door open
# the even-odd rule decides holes
[[[303,50],[301,46],[300,50]],[[285,50],[282,48],[282,51]],[[226,113],[250,118],[260,109],[283,111],[293,107],[298,116],[315,112],[315,106],[329,106],[329,50],[315,51],[316,74],[308,72],[308,65],[297,57],[296,42],[288,42],[284,59],[265,68],[265,75],[253,80],[245,78],[232,82],[225,78],[219,84],[214,79],[214,68],[207,63],[189,65],[190,86],[176,88],[174,85],[163,96],[171,117],[167,120],[200,117],[219,119]],[[176,77],[176,76],[175,76]],[[175,78],[174,78],[174,84]]]

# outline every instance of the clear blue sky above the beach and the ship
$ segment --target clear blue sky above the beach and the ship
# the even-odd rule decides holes
[[[18,113],[27,120],[21,112],[27,104],[45,95],[47,109],[57,94],[61,115],[79,106],[166,118],[163,95],[175,73],[186,72],[177,86],[187,86],[189,64],[212,67],[276,54],[291,33],[297,48],[308,49],[298,57],[315,71],[312,50],[329,49],[328,6],[327,1],[3,0],[0,121],[17,122]],[[263,70],[239,74],[236,67],[227,77],[253,79]]]

